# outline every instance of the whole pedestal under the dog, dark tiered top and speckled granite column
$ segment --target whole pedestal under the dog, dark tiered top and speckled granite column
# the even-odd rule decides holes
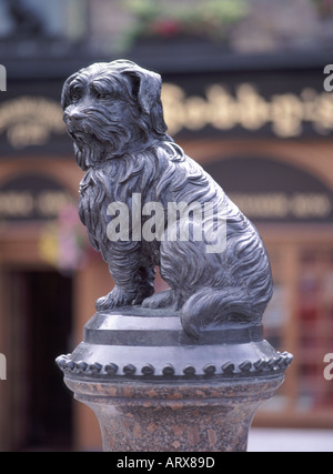
[[[292,360],[261,326],[182,331],[179,314],[141,307],[97,313],[72,354],[57,359],[64,382],[100,423],[104,451],[246,451],[259,405]]]

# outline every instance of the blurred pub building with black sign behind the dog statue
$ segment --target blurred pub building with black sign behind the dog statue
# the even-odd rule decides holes
[[[54,365],[112,284],[78,220],[59,99],[72,72],[122,57],[162,74],[170,133],[268,246],[265,333],[294,362],[254,425],[333,428],[332,51],[333,0],[0,0],[1,451],[100,448]]]

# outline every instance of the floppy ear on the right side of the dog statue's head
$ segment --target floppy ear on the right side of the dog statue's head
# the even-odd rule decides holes
[[[130,77],[133,88],[133,94],[143,112],[150,114],[152,109],[161,100],[161,85],[162,80],[160,74],[141,69],[124,71]]]

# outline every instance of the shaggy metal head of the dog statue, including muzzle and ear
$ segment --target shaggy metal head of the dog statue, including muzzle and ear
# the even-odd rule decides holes
[[[161,77],[131,61],[81,69],[64,82],[61,104],[83,170],[167,137]]]

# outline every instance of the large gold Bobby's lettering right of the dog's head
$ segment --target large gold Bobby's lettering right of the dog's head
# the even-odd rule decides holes
[[[206,125],[256,131],[270,124],[275,135],[290,138],[302,134],[304,122],[320,134],[333,130],[333,94],[311,88],[304,88],[300,95],[283,93],[265,99],[250,83],[239,84],[235,94],[222,84],[211,84],[205,97],[186,97],[179,85],[164,83],[162,102],[171,134]]]

